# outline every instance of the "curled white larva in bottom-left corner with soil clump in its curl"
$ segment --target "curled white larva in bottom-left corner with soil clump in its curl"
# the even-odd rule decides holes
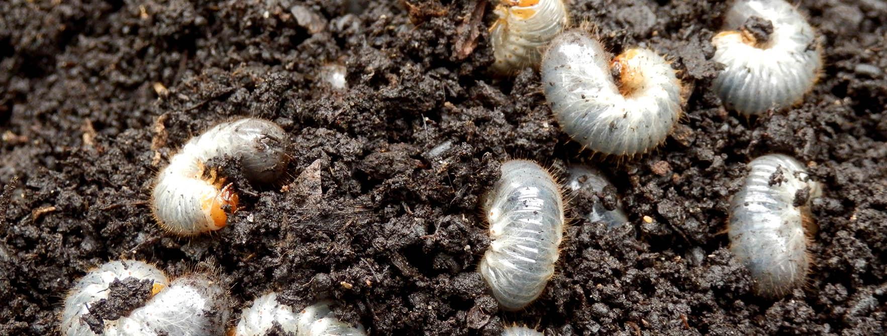
[[[102,318],[102,304],[114,279],[151,280],[150,298],[140,307]],[[90,309],[95,311],[90,311]],[[216,336],[224,333],[230,310],[225,291],[201,274],[169,282],[154,266],[132,260],[105,263],[83,276],[65,300],[61,332],[67,336]]]

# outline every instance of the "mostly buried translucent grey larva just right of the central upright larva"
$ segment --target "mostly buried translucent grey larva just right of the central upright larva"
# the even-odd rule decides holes
[[[587,189],[594,193],[603,192],[605,187],[613,186],[607,178],[597,169],[589,168],[583,165],[572,165],[569,167],[569,177],[567,178],[567,187],[574,192],[579,189]],[[622,210],[622,203],[617,202],[616,209],[607,210],[600,201],[594,202],[592,211],[587,215],[589,222],[607,223],[610,228],[623,225],[628,222],[625,211]]]

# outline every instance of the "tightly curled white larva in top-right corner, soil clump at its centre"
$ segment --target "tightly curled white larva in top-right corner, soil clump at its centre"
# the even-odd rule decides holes
[[[772,27],[770,26],[772,24]],[[800,102],[822,68],[813,28],[782,0],[739,0],[711,39],[725,66],[714,90],[726,107],[754,115]],[[772,32],[771,32],[772,30]]]

